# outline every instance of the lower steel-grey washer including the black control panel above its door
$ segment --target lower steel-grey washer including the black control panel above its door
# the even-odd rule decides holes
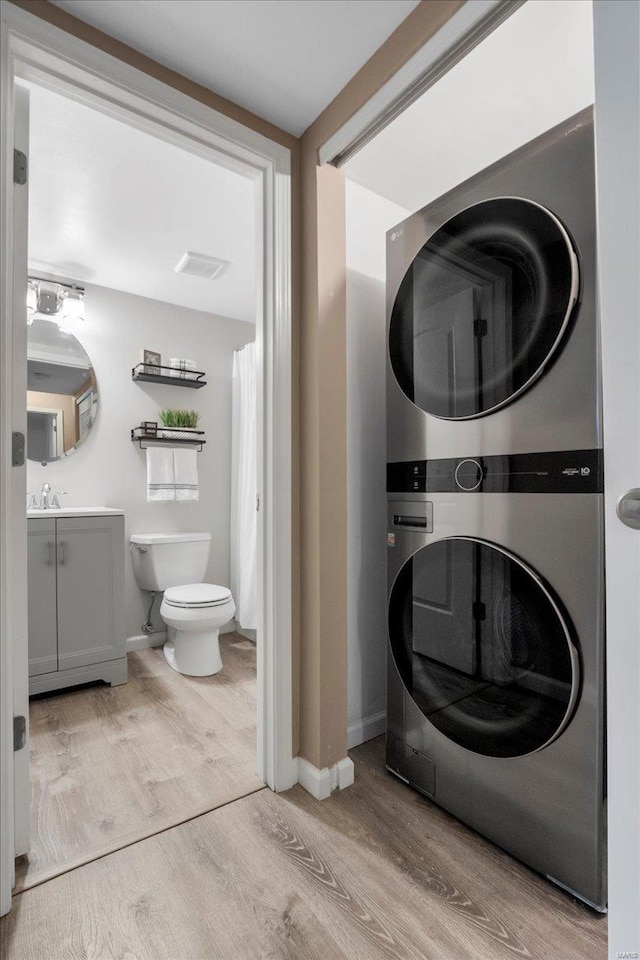
[[[403,461],[388,491],[389,770],[603,909],[601,451]]]

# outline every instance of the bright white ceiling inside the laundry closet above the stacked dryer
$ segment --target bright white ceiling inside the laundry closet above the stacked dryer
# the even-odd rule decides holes
[[[525,3],[345,166],[419,210],[593,103],[589,0]]]

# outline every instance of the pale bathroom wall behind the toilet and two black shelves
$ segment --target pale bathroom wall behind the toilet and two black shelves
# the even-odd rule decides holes
[[[201,281],[195,280],[198,283]],[[68,491],[62,506],[121,507],[125,535],[160,530],[207,530],[213,535],[207,579],[229,584],[231,491],[231,367],[235,349],[255,337],[252,324],[137,297],[106,287],[86,286],[87,320],[78,339],[93,361],[99,406],[90,435],[70,457],[43,467],[29,462],[27,489],[39,494],[48,480]],[[131,368],[142,348],[163,359],[192,357],[207,373],[207,386],[188,390],[134,383]],[[200,500],[147,503],[145,454],[130,439],[141,420],[158,420],[166,407],[198,410],[207,443],[198,454]],[[135,582],[127,550],[127,636],[141,634],[149,604]],[[156,603],[154,622],[162,628]]]

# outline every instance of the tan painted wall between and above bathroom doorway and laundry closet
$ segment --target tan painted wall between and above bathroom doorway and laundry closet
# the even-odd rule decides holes
[[[301,141],[47,0],[12,2],[292,151],[294,751],[299,729],[300,753],[330,766],[347,753],[345,214],[317,153],[464,0],[422,0]]]

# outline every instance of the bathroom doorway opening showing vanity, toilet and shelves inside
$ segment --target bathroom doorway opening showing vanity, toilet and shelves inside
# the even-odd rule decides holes
[[[255,183],[20,87],[35,303],[25,314],[31,844],[16,891],[264,787]],[[185,250],[224,267],[215,279],[178,272]],[[69,289],[82,291],[73,316]],[[163,428],[185,408],[198,432]],[[175,485],[154,474],[168,459]],[[206,634],[197,652],[194,625]]]

